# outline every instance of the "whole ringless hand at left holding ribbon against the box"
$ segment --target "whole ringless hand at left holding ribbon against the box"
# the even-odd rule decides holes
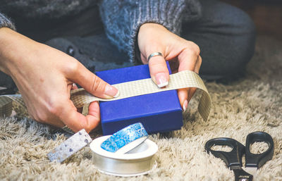
[[[87,116],[77,111],[70,99],[73,83],[94,96],[118,96],[118,89],[75,58],[6,27],[0,28],[0,70],[13,78],[32,118],[56,127],[68,125],[75,132],[90,132],[100,116],[97,102],[90,104]]]

